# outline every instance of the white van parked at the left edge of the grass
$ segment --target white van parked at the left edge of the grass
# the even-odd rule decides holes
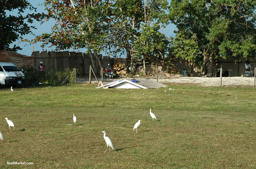
[[[25,82],[25,75],[13,63],[0,62],[0,85],[18,85]]]

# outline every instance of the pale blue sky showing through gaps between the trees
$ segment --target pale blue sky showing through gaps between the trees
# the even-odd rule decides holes
[[[42,4],[44,2],[44,0],[28,0],[29,3],[31,3],[34,7],[37,8],[37,13],[46,13],[46,11],[44,10],[44,6],[43,5],[39,5],[38,4]],[[7,13],[7,12],[6,12]],[[16,11],[12,11],[12,12],[9,12],[7,14],[11,14],[11,15],[15,15]],[[50,33],[51,32],[51,27],[54,25],[55,23],[55,20],[49,20],[48,22],[45,22],[43,23],[42,25],[40,25],[39,22],[37,21],[34,21],[34,26],[37,27],[37,30],[32,30],[32,32],[35,34],[35,35],[39,35],[39,34],[42,34],[42,33]],[[167,37],[170,37],[170,36],[174,36],[174,33],[173,31],[176,30],[176,27],[175,25],[173,24],[170,24],[168,25],[168,27],[164,30],[161,30],[162,33],[166,34]],[[25,36],[23,36],[24,39],[34,39],[35,36],[31,35],[31,34],[27,34]],[[16,41],[14,42],[12,45],[10,45],[10,47],[12,47],[14,44],[18,45],[19,47],[22,48],[22,50],[18,50],[18,53],[21,53],[22,55],[27,55],[27,56],[31,56],[32,54],[32,45],[30,45],[29,43],[27,42],[20,42],[19,41]],[[34,51],[40,51],[42,52],[43,49],[42,47],[40,47],[42,43],[38,42],[37,44],[33,44],[34,46]],[[50,46],[50,45],[49,45]],[[44,50],[47,50],[47,51],[51,51],[51,50],[54,50],[55,47],[45,47]],[[66,51],[66,50],[64,50]],[[69,51],[76,51],[76,52],[86,52],[86,49],[80,49],[80,50],[69,50]],[[104,52],[101,52],[100,54],[102,54],[103,56],[106,56],[107,54],[105,54]]]

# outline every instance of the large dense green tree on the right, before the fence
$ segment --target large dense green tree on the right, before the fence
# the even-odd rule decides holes
[[[254,0],[172,0],[169,19],[178,28],[172,51],[200,64],[201,74],[219,57],[255,57],[255,10]]]

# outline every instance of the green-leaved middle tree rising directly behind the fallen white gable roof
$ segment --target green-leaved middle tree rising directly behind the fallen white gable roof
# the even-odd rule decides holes
[[[118,0],[111,9],[115,15],[110,18],[109,45],[127,53],[132,72],[133,62],[143,59],[144,75],[146,74],[145,60],[156,60],[164,57],[168,41],[160,28],[164,26],[162,15],[166,15],[168,2],[162,0]],[[125,49],[125,50],[122,50]]]

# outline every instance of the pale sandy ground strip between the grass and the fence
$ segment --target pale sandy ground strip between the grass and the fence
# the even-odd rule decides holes
[[[120,77],[115,79],[131,79],[135,78],[139,80],[140,78],[153,78],[156,79],[156,76],[147,76],[147,77]],[[98,78],[100,81],[101,78]],[[110,79],[103,79],[104,81]],[[222,82],[219,77],[184,77],[182,75],[171,75],[171,74],[162,74],[158,75],[158,82],[166,85],[187,85],[187,86],[223,86],[223,87],[254,87],[254,77],[222,77]],[[77,83],[89,83],[89,77],[82,77],[77,79]],[[96,78],[91,79],[91,83],[98,84]]]

